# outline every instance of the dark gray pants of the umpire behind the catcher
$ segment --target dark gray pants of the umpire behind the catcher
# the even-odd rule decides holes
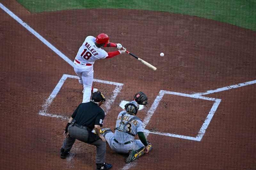
[[[89,132],[86,129],[81,129],[77,126],[68,127],[69,137],[66,137],[62,148],[66,151],[70,151],[76,139],[87,144],[92,144],[96,146],[96,164],[101,164],[105,162],[106,157],[106,142],[102,142],[101,139],[95,142],[88,142]]]

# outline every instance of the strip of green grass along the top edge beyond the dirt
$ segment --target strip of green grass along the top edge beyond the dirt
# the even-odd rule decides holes
[[[120,8],[213,19],[256,31],[256,0],[17,0],[31,13]]]

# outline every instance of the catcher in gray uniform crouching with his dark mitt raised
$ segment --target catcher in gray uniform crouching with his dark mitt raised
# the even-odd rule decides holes
[[[110,128],[100,130],[112,150],[129,153],[125,163],[138,159],[152,149],[152,145],[143,133],[141,119],[135,116],[140,107],[139,104],[146,105],[147,102],[148,98],[143,92],[136,93],[134,99],[125,105],[125,110],[118,114],[115,133],[112,133]],[[134,140],[137,134],[140,140]]]

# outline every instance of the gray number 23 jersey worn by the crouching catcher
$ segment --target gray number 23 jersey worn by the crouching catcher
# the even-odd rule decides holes
[[[122,118],[123,113],[126,113],[126,111],[121,111],[117,116],[116,128],[120,126],[121,118]],[[124,123],[128,122],[132,117],[134,117],[134,115],[130,115],[130,114],[126,113],[124,115],[123,122]],[[122,131],[119,131],[119,130],[116,129],[115,139],[120,143],[133,141],[135,136],[137,135],[137,132],[143,132],[143,127],[142,127],[142,121],[141,120],[134,119],[131,122],[129,122],[125,126],[125,128],[128,132],[132,133],[134,136],[129,135],[128,133],[125,133],[125,132],[122,132]]]

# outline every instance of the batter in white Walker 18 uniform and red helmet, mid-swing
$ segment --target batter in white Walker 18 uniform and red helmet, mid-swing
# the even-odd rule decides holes
[[[117,51],[106,52],[101,47],[116,47]],[[109,42],[109,37],[105,33],[99,34],[96,38],[88,36],[79,48],[74,60],[74,71],[79,77],[79,83],[83,85],[83,103],[89,102],[92,92],[98,89],[92,88],[93,64],[98,59],[111,58],[118,54],[125,53],[126,49],[119,43]]]

